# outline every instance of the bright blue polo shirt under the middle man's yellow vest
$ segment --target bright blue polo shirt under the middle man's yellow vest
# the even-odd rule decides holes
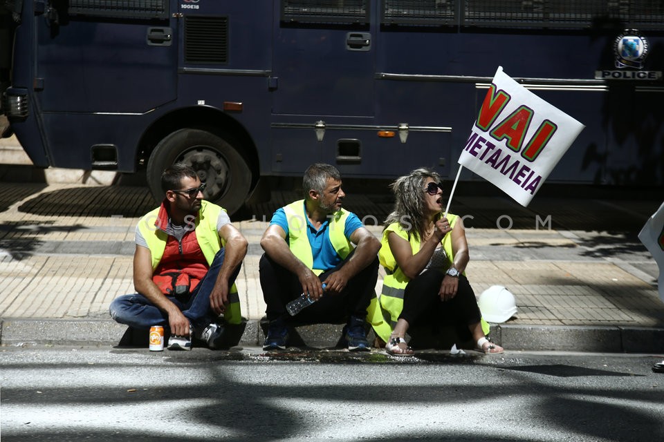
[[[304,202],[302,204],[304,204]],[[288,221],[286,220],[286,212],[283,207],[277,209],[275,214],[272,215],[270,225],[272,224],[276,224],[284,229],[286,232],[286,242],[288,242]],[[306,218],[306,224],[306,236],[309,240],[309,244],[311,244],[311,253],[313,253],[313,268],[321,269],[322,271],[333,269],[342,262],[342,259],[337,254],[337,251],[335,251],[332,242],[330,241],[330,232],[328,229],[330,225],[329,218],[323,222],[318,230],[313,227],[309,218]],[[344,236],[347,240],[350,241],[353,232],[360,227],[364,226],[362,225],[360,218],[358,218],[358,215],[352,212],[349,213],[348,218],[346,219],[346,225],[344,226]]]

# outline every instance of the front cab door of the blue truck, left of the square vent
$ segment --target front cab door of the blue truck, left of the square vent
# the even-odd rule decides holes
[[[36,1],[45,113],[146,113],[176,97],[169,0]]]

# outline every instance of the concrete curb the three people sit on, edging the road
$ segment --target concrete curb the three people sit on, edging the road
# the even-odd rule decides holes
[[[0,345],[119,345],[128,328],[113,320],[4,319]],[[297,327],[291,345],[335,347],[342,325]],[[369,333],[370,342],[373,333]],[[648,327],[593,327],[564,325],[492,325],[492,340],[508,351],[602,353],[664,353],[664,329]],[[533,336],[537,338],[533,339]],[[260,346],[265,338],[261,320],[244,324],[239,346]]]

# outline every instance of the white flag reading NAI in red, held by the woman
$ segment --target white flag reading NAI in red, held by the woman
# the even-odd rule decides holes
[[[584,127],[499,67],[459,164],[527,206]]]

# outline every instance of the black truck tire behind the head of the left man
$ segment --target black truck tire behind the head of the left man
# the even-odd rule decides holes
[[[157,144],[147,162],[147,183],[155,200],[164,198],[161,173],[171,164],[191,166],[208,184],[205,200],[222,206],[229,214],[245,202],[251,171],[239,154],[239,144],[230,137],[220,137],[200,129],[180,129]]]

